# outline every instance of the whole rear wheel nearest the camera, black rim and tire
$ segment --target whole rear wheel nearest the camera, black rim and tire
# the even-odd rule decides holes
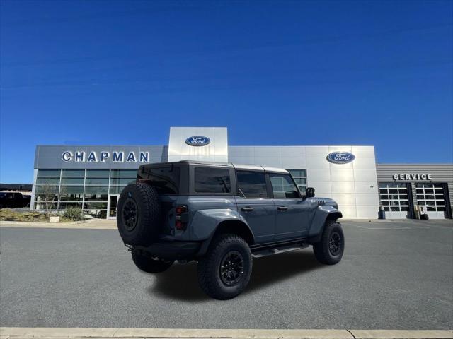
[[[198,283],[214,299],[239,295],[248,285],[251,273],[251,251],[247,242],[235,234],[212,239],[206,256],[198,261]]]

